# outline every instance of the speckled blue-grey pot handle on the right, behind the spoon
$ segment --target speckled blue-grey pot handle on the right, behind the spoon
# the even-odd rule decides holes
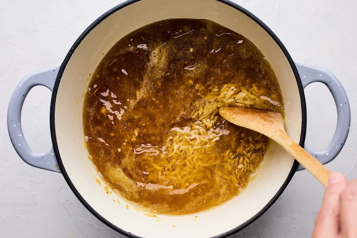
[[[350,103],[348,102],[347,94],[342,84],[335,75],[327,70],[323,70],[313,66],[307,66],[295,63],[299,72],[302,86],[305,88],[312,82],[324,83],[330,90],[337,107],[337,126],[335,134],[332,137],[330,144],[324,151],[311,151],[306,145],[304,148],[312,156],[317,158],[321,163],[326,164],[334,159],[342,150],[346,142],[348,131],[351,124]],[[297,171],[304,169],[299,165]]]

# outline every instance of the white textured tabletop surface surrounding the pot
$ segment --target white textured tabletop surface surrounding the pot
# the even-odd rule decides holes
[[[121,2],[0,1],[0,237],[124,238],[86,210],[61,174],[22,162],[6,127],[7,105],[19,81],[32,72],[59,66],[82,31]],[[234,2],[265,22],[295,61],[327,69],[345,86],[351,103],[351,131],[340,155],[327,167],[348,179],[357,178],[357,1]],[[328,145],[335,130],[335,104],[322,84],[313,83],[305,92],[306,143],[318,150]],[[22,111],[24,135],[37,152],[51,146],[50,97],[48,89],[37,86]],[[310,174],[297,172],[263,216],[230,238],[310,237],[322,194],[323,187]]]

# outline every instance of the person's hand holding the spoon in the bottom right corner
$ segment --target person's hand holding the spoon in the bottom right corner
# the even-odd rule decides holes
[[[347,183],[343,174],[331,174],[312,237],[357,237],[357,179]]]

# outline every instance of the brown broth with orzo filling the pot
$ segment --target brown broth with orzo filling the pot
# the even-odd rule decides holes
[[[242,35],[169,19],[119,40],[84,100],[87,149],[107,185],[161,214],[190,214],[238,195],[267,138],[223,120],[220,106],[284,114],[270,64]]]

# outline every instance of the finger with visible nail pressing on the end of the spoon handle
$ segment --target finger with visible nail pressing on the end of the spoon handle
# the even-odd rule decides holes
[[[347,186],[343,174],[334,172],[328,179],[320,211],[315,219],[313,238],[337,237],[340,224],[340,193]]]

